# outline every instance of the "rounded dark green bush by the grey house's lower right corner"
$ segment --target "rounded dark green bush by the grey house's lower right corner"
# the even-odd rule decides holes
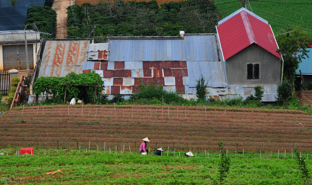
[[[288,97],[291,96],[292,91],[291,91],[292,85],[289,80],[283,80],[277,85],[277,102],[281,104],[286,104]]]

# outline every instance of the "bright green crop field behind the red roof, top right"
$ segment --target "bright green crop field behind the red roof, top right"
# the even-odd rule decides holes
[[[232,2],[232,0],[215,0],[214,2],[217,11],[221,16],[220,18],[225,18],[242,7],[242,1]],[[224,2],[230,3],[222,4]],[[268,21],[275,35],[279,34],[280,31],[285,32],[289,26],[301,26],[302,28],[304,28],[305,31],[309,33],[310,36],[312,36],[311,0],[277,0],[274,2],[247,0],[246,8]]]

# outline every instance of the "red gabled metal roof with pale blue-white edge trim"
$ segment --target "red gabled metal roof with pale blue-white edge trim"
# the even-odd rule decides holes
[[[255,43],[282,59],[276,52],[278,46],[271,26],[245,8],[232,13],[218,22],[217,33],[221,43],[224,60]],[[269,37],[271,37],[269,39]]]

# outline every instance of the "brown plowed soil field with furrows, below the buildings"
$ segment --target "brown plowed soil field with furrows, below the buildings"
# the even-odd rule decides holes
[[[303,111],[227,107],[54,105],[25,107],[0,116],[0,145],[96,148],[139,147],[149,137],[152,149],[312,151],[312,116]],[[90,113],[89,113],[90,112]],[[38,114],[38,115],[37,115]],[[207,116],[207,117],[206,117]],[[301,124],[300,124],[301,123]],[[157,146],[156,146],[157,145]],[[128,147],[129,148],[129,147]]]

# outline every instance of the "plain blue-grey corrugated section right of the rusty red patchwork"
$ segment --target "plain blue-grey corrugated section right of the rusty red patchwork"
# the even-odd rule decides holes
[[[207,87],[227,87],[221,62],[213,61],[196,61],[187,62],[188,77],[183,77],[183,84],[190,87],[196,87],[196,79],[202,76],[208,81]]]

